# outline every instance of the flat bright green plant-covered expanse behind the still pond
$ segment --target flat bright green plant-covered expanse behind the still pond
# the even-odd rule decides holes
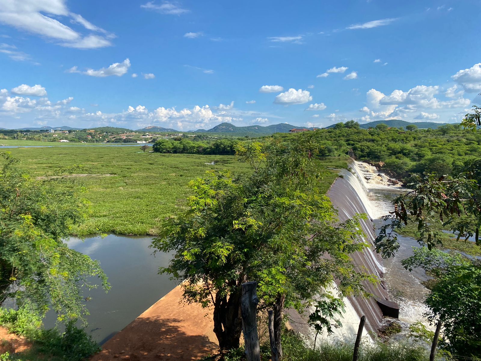
[[[202,177],[210,169],[228,169],[234,174],[248,171],[248,166],[235,156],[143,153],[132,146],[4,150],[20,159],[18,167],[32,177],[82,166],[67,171],[87,188],[84,197],[91,204],[89,218],[74,230],[79,235],[109,232],[155,235],[159,220],[176,213],[185,204],[190,180]],[[216,164],[206,164],[212,161]],[[345,168],[346,163],[323,161],[320,167]],[[330,173],[324,177],[323,192],[336,176]]]

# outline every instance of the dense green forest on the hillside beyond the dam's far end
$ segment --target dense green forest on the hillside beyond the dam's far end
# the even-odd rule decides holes
[[[345,155],[352,149],[358,159],[378,162],[401,178],[423,171],[452,174],[481,155],[480,131],[459,125],[409,129],[388,128],[382,123],[376,128],[359,129],[357,123],[350,121],[333,129],[295,136],[299,141],[312,137],[321,156]]]

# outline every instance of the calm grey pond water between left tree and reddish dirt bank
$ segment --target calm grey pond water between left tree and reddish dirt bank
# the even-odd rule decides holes
[[[103,343],[170,292],[177,283],[168,275],[157,274],[166,266],[170,255],[149,248],[152,237],[109,234],[105,238],[71,238],[68,245],[101,263],[112,288],[105,293],[101,288],[84,293],[90,315],[86,329],[95,341]],[[93,280],[95,282],[95,280]],[[55,315],[47,315],[45,325],[54,326]]]

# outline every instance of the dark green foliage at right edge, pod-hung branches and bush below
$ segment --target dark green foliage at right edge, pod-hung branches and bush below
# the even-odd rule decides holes
[[[416,239],[421,248],[403,260],[406,269],[421,267],[434,277],[426,299],[431,322],[443,322],[447,339],[445,348],[457,355],[479,356],[481,353],[481,262],[461,255],[450,256],[436,248],[443,247],[443,229],[458,232],[457,240],[474,237],[481,245],[481,160],[466,163],[456,178],[435,174],[414,175],[412,191],[393,200],[394,212],[384,217],[375,240],[376,250],[392,257],[399,244],[395,229],[401,224],[417,224]]]

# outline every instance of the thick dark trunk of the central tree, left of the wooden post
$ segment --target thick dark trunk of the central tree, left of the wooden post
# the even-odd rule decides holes
[[[221,351],[239,348],[242,332],[241,292],[231,293],[229,297],[215,295],[214,333]]]

